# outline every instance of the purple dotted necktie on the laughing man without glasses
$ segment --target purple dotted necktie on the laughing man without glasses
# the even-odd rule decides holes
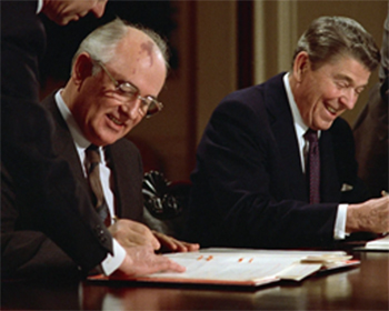
[[[309,202],[315,204],[320,202],[320,153],[318,132],[309,129],[303,137],[309,142],[306,167],[309,181]]]

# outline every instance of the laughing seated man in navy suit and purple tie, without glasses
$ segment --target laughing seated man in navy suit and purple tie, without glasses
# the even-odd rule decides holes
[[[290,72],[226,97],[198,148],[187,238],[302,248],[389,231],[389,198],[368,200],[339,118],[379,60],[359,23],[322,17],[300,38]]]

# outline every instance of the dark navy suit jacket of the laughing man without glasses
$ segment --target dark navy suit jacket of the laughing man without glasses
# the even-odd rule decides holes
[[[323,203],[307,203],[283,74],[229,94],[215,110],[197,151],[184,238],[202,247],[318,247],[333,240],[338,203],[366,199],[352,133],[337,119],[319,142]],[[347,197],[343,183],[355,187]]]

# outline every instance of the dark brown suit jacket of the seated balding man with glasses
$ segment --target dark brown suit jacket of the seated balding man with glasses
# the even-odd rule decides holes
[[[58,110],[53,94],[44,99],[42,104],[54,120],[54,151],[68,161],[79,185],[88,192],[88,181],[83,175],[73,139]],[[112,171],[117,215],[142,221],[143,198],[141,185],[143,169],[138,149],[129,140],[120,139],[104,150]],[[74,272],[77,274],[76,263],[56,243],[42,232],[28,230],[31,228],[31,219],[26,219],[20,213],[20,207],[6,204],[1,219],[2,227],[7,227],[13,235],[3,255],[8,259],[18,258],[16,250],[30,254],[18,267],[14,267],[14,275],[30,275],[36,272],[40,274],[46,272],[56,274]]]

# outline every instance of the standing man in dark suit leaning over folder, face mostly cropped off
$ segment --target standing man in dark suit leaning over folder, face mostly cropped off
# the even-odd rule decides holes
[[[68,162],[54,152],[53,121],[39,103],[39,64],[46,32],[38,13],[67,24],[88,12],[100,18],[106,3],[107,0],[1,1],[1,213],[6,204],[14,202],[20,207],[20,215],[31,219],[31,235],[43,232],[86,273],[94,268],[106,274],[121,271],[129,275],[183,271],[146,245],[126,248],[121,260],[111,260],[119,243],[94,211],[89,193],[74,179]],[[8,230],[1,228],[1,263],[20,267],[33,253],[19,251],[18,247],[18,257],[7,259],[9,248],[23,244],[26,237]],[[39,245],[41,239],[34,237],[29,243]],[[3,265],[1,272],[4,278]]]

